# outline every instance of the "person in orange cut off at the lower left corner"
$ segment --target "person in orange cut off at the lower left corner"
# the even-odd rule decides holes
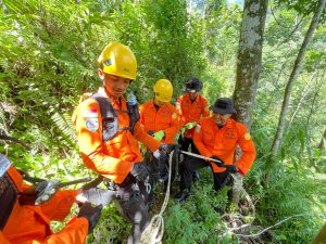
[[[100,218],[100,209],[85,204],[58,233],[50,221],[63,221],[70,214],[78,191],[59,191],[39,206],[24,203],[34,188],[23,183],[22,175],[0,154],[0,243],[1,244],[83,244]]]

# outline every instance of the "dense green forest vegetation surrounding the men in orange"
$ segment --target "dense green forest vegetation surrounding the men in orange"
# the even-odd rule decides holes
[[[285,217],[304,215],[251,243],[311,243],[325,222],[325,214],[317,215],[326,209],[325,10],[293,87],[280,152],[277,157],[269,156],[286,82],[314,10],[314,1],[291,2],[269,2],[251,127],[259,155],[244,188],[256,207],[253,224],[261,229]],[[152,85],[163,77],[174,85],[174,101],[190,76],[203,80],[203,94],[211,103],[218,97],[231,97],[242,7],[223,0],[189,3],[0,2],[0,131],[29,144],[25,150],[1,143],[0,152],[35,176],[73,179],[86,175],[70,116],[79,95],[100,86],[96,61],[111,40],[128,44],[136,53],[139,70],[131,89],[140,103],[151,98]],[[243,241],[224,234],[225,227],[213,207],[225,208],[227,196],[226,192],[212,192],[210,172],[203,171],[196,188],[186,204],[170,203],[164,242]],[[128,233],[113,206],[105,209],[100,224],[90,243],[121,243]]]

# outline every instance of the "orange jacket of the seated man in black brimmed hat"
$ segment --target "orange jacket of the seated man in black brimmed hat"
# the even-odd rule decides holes
[[[234,164],[237,144],[241,147],[242,156],[235,163],[239,172],[246,175],[255,158],[255,149],[250,134],[243,124],[229,118],[226,125],[218,129],[212,117],[202,118],[196,127],[193,142],[201,155],[206,157],[217,156],[226,165]],[[225,171],[211,163],[214,172]]]

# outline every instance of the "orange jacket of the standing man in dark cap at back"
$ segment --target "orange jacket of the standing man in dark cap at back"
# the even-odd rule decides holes
[[[190,101],[189,94],[186,93],[178,98],[176,110],[180,116],[183,126],[190,121],[199,121],[201,117],[210,116],[209,103],[201,94],[197,95],[193,102]],[[192,138],[195,128],[185,131],[186,138]]]

